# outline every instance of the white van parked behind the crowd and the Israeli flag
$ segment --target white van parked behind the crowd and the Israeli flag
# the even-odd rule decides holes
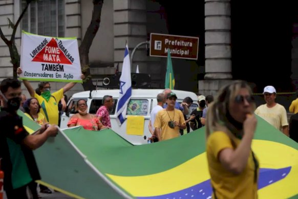
[[[119,126],[116,121],[116,109],[119,99],[119,90],[96,90],[96,91],[85,91],[74,94],[68,102],[68,112],[61,116],[61,128],[67,128],[67,123],[69,118],[75,113],[75,105],[79,99],[87,100],[88,113],[96,114],[98,108],[102,105],[102,98],[105,95],[113,96],[114,107],[110,111],[111,125],[112,129],[117,132],[122,138],[131,142],[134,145],[140,145],[147,143],[147,139],[151,137],[150,131],[148,129],[148,123],[150,120],[151,110],[157,105],[157,95],[162,93],[162,89],[133,89],[132,97],[128,104],[126,111],[127,116],[143,116],[144,117],[144,129],[142,136],[128,135],[126,133],[125,122]],[[189,113],[198,107],[197,95],[193,92],[173,90],[178,99],[177,101],[181,103],[185,97],[190,97],[194,100],[194,103],[189,108]],[[130,108],[129,108],[130,107]],[[191,129],[190,129],[191,130]]]

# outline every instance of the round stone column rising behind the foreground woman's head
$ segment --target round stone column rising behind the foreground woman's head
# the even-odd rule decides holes
[[[199,93],[215,94],[231,75],[230,0],[205,0],[205,80]]]

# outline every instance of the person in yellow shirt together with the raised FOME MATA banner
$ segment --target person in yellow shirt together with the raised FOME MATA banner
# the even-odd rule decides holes
[[[50,124],[58,125],[58,103],[63,94],[76,82],[82,82],[81,66],[76,37],[55,38],[22,32],[19,78],[23,80],[31,97],[35,97]],[[21,70],[22,68],[22,70]],[[41,95],[35,93],[28,80],[39,83]],[[51,94],[50,81],[69,82]]]

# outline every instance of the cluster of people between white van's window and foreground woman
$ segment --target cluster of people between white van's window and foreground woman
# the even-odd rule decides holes
[[[208,100],[208,101],[207,101]],[[148,139],[150,143],[164,141],[184,135],[192,130],[204,126],[202,124],[203,110],[211,103],[213,96],[198,96],[199,107],[189,114],[190,106],[194,100],[185,97],[181,103],[177,101],[177,96],[169,89],[157,95],[157,105],[151,111],[151,119],[148,129],[152,135]],[[206,117],[204,115],[204,117]]]

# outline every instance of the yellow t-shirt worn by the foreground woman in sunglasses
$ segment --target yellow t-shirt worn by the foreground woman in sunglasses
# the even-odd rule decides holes
[[[241,140],[233,139],[236,147]],[[247,166],[240,174],[233,174],[226,170],[218,159],[219,152],[225,148],[233,148],[230,138],[225,132],[216,131],[212,133],[207,139],[207,160],[209,173],[211,176],[211,185],[215,193],[212,198],[258,198],[258,176],[259,169],[257,169],[257,181],[254,179],[255,164],[253,162],[252,153],[247,161]],[[255,159],[258,161],[256,155]]]

